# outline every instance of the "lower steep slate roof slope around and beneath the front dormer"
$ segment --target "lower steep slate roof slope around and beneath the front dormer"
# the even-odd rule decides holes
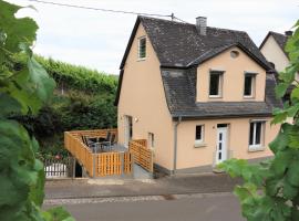
[[[264,102],[196,102],[196,69],[162,70],[162,80],[174,118],[271,116],[274,107],[281,107],[281,101],[275,96],[276,80],[272,74],[267,74]]]

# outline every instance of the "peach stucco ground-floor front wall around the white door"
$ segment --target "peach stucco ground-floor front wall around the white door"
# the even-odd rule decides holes
[[[261,150],[249,150],[249,124],[265,120],[265,136]],[[270,126],[271,118],[227,118],[183,122],[178,126],[177,169],[210,167],[216,164],[217,125],[227,124],[227,158],[256,159],[272,156],[268,144],[274,140],[279,126]],[[204,126],[203,144],[195,144],[195,127]],[[186,160],[187,159],[187,160]]]

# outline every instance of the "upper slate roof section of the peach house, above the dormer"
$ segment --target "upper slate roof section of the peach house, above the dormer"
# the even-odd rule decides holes
[[[267,60],[244,31],[207,27],[206,35],[202,35],[195,24],[148,17],[137,18],[121,69],[124,67],[140,23],[143,24],[162,66],[190,67],[231,45],[239,45],[264,69],[270,69]]]

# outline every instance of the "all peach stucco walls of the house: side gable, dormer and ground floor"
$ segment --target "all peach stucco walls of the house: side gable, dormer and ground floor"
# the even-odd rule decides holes
[[[146,57],[138,60],[138,39],[146,36]],[[239,56],[231,59],[230,51],[238,51]],[[215,166],[217,125],[227,124],[227,156],[255,159],[271,156],[268,144],[275,138],[279,126],[270,126],[270,118],[219,118],[183,120],[177,126],[167,107],[161,64],[142,24],[137,28],[131,50],[124,64],[124,74],[117,105],[118,143],[125,144],[125,116],[133,119],[133,139],[147,139],[148,133],[155,137],[155,164],[172,171]],[[221,70],[224,73],[225,102],[241,102],[245,72],[256,73],[255,96],[252,101],[265,101],[266,72],[240,49],[234,48],[210,59],[197,69],[197,102],[209,102],[209,71]],[[247,99],[246,99],[247,101]],[[250,120],[265,120],[264,147],[259,151],[249,151]],[[204,143],[195,147],[196,125],[204,125]],[[174,165],[175,140],[177,159]]]

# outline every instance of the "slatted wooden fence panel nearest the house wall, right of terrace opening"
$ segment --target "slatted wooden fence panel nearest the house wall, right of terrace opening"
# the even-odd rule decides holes
[[[128,151],[134,156],[134,161],[145,170],[154,171],[154,155],[153,150],[147,148],[146,139],[131,140]]]

